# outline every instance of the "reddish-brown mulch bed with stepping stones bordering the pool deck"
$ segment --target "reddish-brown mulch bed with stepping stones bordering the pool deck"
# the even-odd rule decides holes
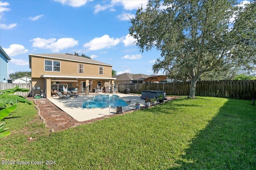
[[[168,101],[170,101],[179,97],[166,97],[166,98],[168,99]],[[132,111],[135,111],[135,108],[134,108],[134,110],[125,111],[121,114],[112,114],[112,115],[80,122],[74,119],[73,117],[71,117],[70,115],[68,115],[68,113],[66,113],[65,111],[62,111],[59,107],[55,106],[48,99],[32,99],[31,98],[30,100],[33,100],[34,103],[37,105],[36,108],[38,109],[38,115],[40,116],[43,123],[46,124],[46,127],[48,127],[51,132],[62,131],[70,127],[75,127],[81,124],[102,120],[107,117],[122,115],[125,113],[130,113]]]

